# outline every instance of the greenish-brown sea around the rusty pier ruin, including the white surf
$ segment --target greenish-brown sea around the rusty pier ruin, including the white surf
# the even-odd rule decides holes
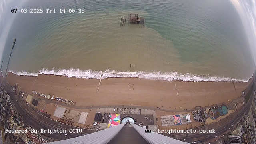
[[[12,24],[4,65],[17,38],[8,68],[16,74],[99,78],[134,72],[160,80],[246,81],[254,69],[242,21],[228,0],[28,0],[22,8],[44,12],[18,13]],[[145,28],[120,27],[120,17],[129,13],[145,17]]]

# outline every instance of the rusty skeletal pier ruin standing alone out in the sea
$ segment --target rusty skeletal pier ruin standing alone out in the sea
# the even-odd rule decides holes
[[[139,17],[138,14],[128,14],[127,20],[130,24],[140,24],[140,28],[145,27],[145,18]],[[126,23],[126,18],[121,17],[120,26],[123,26]]]

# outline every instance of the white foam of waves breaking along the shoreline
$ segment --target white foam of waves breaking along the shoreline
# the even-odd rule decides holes
[[[23,76],[37,76],[38,73],[32,73],[32,72],[16,72],[10,70],[9,72],[12,72],[16,75],[23,75]],[[104,78],[122,78],[122,77],[137,77],[137,78],[144,78],[148,80],[165,80],[165,81],[174,81],[174,80],[180,80],[180,81],[188,81],[188,82],[201,82],[201,81],[224,81],[224,82],[231,82],[231,78],[225,78],[225,77],[217,77],[217,76],[210,76],[210,75],[195,75],[195,74],[180,74],[178,72],[119,72],[116,70],[109,70],[106,69],[104,71],[93,71],[93,70],[80,70],[80,69],[73,69],[70,68],[69,70],[66,69],[58,69],[55,70],[55,68],[52,68],[52,70],[48,69],[42,69],[40,70],[39,74],[54,74],[56,76],[67,76],[69,78],[75,77],[75,78],[96,78],[102,79]],[[252,77],[252,76],[251,76]],[[251,78],[250,77],[250,78]],[[235,82],[248,82],[250,79],[233,79]]]

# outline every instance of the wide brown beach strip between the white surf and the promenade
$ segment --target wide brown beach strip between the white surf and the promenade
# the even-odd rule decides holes
[[[44,75],[18,76],[8,73],[10,85],[27,93],[42,94],[74,100],[76,106],[136,105],[164,109],[195,108],[228,103],[241,96],[248,82],[178,82],[141,78],[98,79],[68,78]],[[36,81],[35,81],[36,80]],[[235,90],[235,88],[236,90]]]

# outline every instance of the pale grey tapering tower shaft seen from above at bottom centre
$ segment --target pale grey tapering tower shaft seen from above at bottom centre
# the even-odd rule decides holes
[[[52,142],[52,144],[188,144],[157,133],[145,132],[133,122],[126,121],[111,128],[79,136],[72,139]]]

